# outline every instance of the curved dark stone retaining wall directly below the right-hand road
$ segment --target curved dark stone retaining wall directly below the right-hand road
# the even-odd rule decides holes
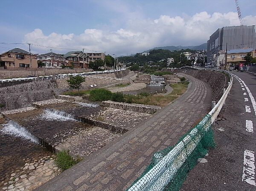
[[[180,72],[193,76],[206,82],[212,88],[212,101],[220,100],[223,88],[227,88],[228,78],[219,71],[196,70],[193,68],[175,69],[173,72]]]

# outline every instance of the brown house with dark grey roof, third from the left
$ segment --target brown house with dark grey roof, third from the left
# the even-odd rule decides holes
[[[89,68],[89,56],[82,51],[70,51],[63,56],[69,66]]]

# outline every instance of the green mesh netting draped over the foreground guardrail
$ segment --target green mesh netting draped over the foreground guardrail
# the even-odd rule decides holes
[[[191,131],[195,130],[195,128],[198,130],[198,133],[195,135],[191,135]],[[191,134],[190,134],[191,133]],[[183,164],[180,166],[180,168],[177,170],[175,175],[172,177],[172,180],[165,186],[164,191],[179,191],[181,186],[183,185],[184,180],[187,177],[187,174],[189,171],[197,164],[198,158],[204,157],[205,154],[207,154],[209,148],[215,148],[215,142],[214,142],[214,135],[213,130],[211,127],[211,116],[207,114],[195,127],[189,130],[186,134],[184,134],[180,140],[176,143],[180,143],[184,140],[184,137],[190,136],[191,141],[196,144],[196,147],[194,150],[190,150],[191,142],[190,143],[184,143],[185,144],[185,153],[186,153],[186,160],[183,162]],[[200,137],[200,139],[198,139]],[[133,182],[132,185],[134,185],[138,180],[140,180],[145,174],[148,173],[148,171],[151,170],[163,157],[165,157],[172,149],[175,148],[174,146],[167,147],[163,149],[162,151],[157,152],[152,157],[151,163],[146,167],[143,174]],[[184,152],[184,151],[182,151]],[[188,154],[189,153],[189,154]],[[172,163],[179,162],[179,155],[175,158]],[[148,177],[150,178],[150,177]],[[132,186],[131,185],[131,186]],[[131,188],[131,187],[129,187]],[[129,188],[126,190],[128,191]]]

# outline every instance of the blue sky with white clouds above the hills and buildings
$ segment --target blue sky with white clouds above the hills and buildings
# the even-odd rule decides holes
[[[256,0],[239,6],[245,24],[256,25]],[[0,53],[31,43],[39,54],[130,55],[201,45],[218,28],[240,25],[234,0],[1,0],[0,18]]]

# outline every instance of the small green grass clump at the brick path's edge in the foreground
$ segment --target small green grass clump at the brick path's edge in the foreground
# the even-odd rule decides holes
[[[82,160],[81,157],[77,157],[77,159],[73,159],[70,156],[69,151],[61,151],[57,153],[57,157],[55,158],[55,162],[57,163],[58,167],[61,168],[62,171],[67,170],[68,168],[76,165],[78,162]]]

